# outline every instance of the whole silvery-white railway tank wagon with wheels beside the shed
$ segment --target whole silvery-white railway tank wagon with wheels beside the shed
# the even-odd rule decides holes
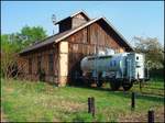
[[[135,81],[146,80],[144,60],[144,55],[138,53],[87,56],[82,58],[80,68],[82,78],[88,83],[96,81],[101,87],[103,81],[108,81],[112,90],[118,90],[121,86],[129,90]]]

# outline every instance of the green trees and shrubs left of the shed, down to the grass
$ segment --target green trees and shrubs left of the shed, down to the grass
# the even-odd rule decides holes
[[[24,26],[21,33],[1,35],[1,76],[11,77],[18,70],[19,52],[45,37],[46,32],[41,26]]]

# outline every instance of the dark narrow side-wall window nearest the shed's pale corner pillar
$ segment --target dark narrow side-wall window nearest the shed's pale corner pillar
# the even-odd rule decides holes
[[[54,56],[53,56],[53,54],[48,55],[48,71],[50,71],[50,75],[53,75],[53,72],[54,72]]]

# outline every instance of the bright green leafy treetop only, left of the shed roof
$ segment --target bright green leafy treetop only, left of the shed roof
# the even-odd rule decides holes
[[[7,43],[14,45],[13,48],[16,53],[35,42],[42,42],[46,36],[46,31],[42,26],[31,27],[28,25],[23,26],[21,32],[1,35],[3,41],[6,38]]]

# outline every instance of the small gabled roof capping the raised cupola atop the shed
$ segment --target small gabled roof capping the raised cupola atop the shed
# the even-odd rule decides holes
[[[74,16],[76,16],[77,14],[82,14],[82,15],[85,15],[85,18],[89,21],[90,20],[90,18],[88,16],[88,14],[85,12],[85,11],[78,11],[78,12],[76,12],[76,13],[74,13],[74,14],[72,14],[72,15],[69,15],[69,16],[67,16],[67,18],[65,18],[65,19],[63,19],[63,20],[59,20],[59,21],[57,21],[55,24],[59,24],[61,22],[63,22],[64,20],[67,20],[67,19],[72,19],[72,18],[74,18]]]

